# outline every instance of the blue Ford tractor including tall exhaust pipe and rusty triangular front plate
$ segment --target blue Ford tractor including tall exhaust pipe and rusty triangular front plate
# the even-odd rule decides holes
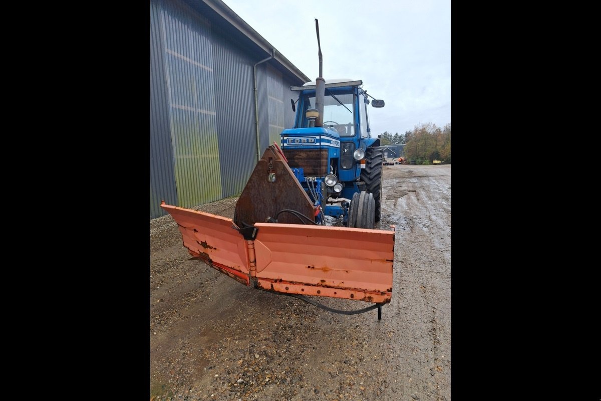
[[[319,25],[316,20],[317,44]],[[299,93],[294,127],[281,133],[281,148],[267,147],[240,194],[237,227],[256,222],[324,225],[325,216],[349,228],[374,228],[382,213],[382,149],[372,138],[362,81],[322,76],[291,87]],[[383,100],[371,97],[371,106]],[[296,104],[298,104],[296,108]]]

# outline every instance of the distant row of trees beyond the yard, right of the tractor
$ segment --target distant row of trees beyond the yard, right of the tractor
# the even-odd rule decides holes
[[[379,136],[380,146],[405,145],[405,159],[417,164],[430,164],[434,160],[451,162],[451,123],[442,128],[433,123],[419,124],[401,135],[385,131]]]

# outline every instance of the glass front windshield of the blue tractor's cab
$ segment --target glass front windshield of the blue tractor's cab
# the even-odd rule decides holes
[[[323,99],[323,127],[337,130],[340,136],[355,135],[353,97],[352,93],[332,93],[326,89],[326,96]],[[302,120],[299,128],[309,126],[305,112],[307,109],[316,108],[315,94],[305,95],[303,100]]]

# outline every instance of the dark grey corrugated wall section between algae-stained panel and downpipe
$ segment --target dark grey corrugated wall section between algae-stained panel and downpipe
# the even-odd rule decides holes
[[[242,192],[257,164],[252,88],[252,64],[257,61],[231,43],[217,27],[213,29],[213,60],[219,154],[222,155],[219,168],[225,198]]]

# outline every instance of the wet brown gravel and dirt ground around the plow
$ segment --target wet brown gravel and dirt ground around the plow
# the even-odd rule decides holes
[[[150,222],[154,400],[451,400],[451,166],[383,167],[395,225],[392,300],[329,313],[191,256],[171,216]],[[232,218],[236,198],[198,207]],[[370,304],[319,297],[332,308]]]

